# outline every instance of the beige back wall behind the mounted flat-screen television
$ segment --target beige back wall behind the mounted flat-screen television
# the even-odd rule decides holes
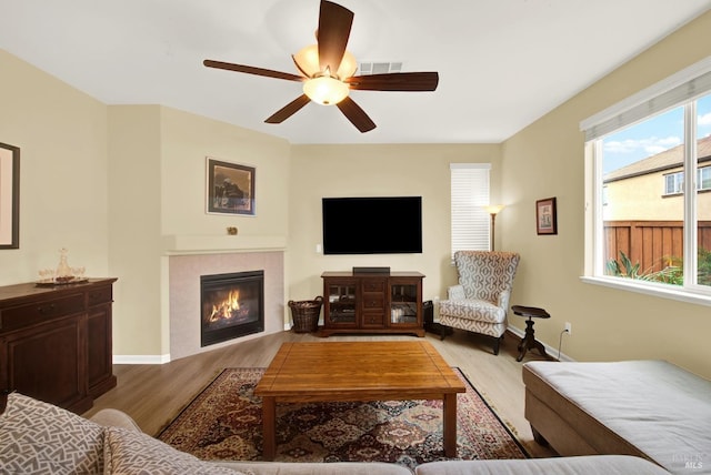
[[[450,163],[491,163],[492,195],[500,181],[500,145],[299,145],[292,146],[289,294],[322,295],[321,273],[353,266],[390,266],[425,275],[423,297],[445,295],[457,273],[450,265]],[[422,254],[323,255],[321,199],[324,196],[422,196]],[[391,229],[353,230],[385,233],[407,226],[393,216]]]

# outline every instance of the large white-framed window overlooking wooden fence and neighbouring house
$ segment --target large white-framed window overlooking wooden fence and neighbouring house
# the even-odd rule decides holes
[[[581,128],[592,204],[585,275],[705,300],[711,295],[711,59]]]

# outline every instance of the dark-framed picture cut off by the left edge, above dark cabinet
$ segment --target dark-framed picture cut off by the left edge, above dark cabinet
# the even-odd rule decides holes
[[[20,149],[0,143],[0,249],[20,247]]]

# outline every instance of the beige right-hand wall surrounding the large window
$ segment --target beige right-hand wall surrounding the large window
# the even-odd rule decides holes
[[[583,275],[584,163],[581,120],[711,54],[711,13],[671,34],[503,144],[504,247],[522,254],[511,301],[542,306],[537,335],[575,360],[667,358],[711,376],[709,306],[613,290]],[[563,179],[561,179],[561,176]],[[559,233],[538,236],[535,200],[558,198]],[[515,321],[522,327],[522,322]]]

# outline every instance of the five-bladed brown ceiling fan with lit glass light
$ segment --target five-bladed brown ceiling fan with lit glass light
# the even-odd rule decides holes
[[[226,69],[268,78],[303,82],[303,94],[268,118],[267,123],[281,123],[310,101],[336,105],[361,132],[375,128],[375,123],[348,94],[351,89],[363,91],[434,91],[439,82],[437,72],[394,72],[353,75],[358,69],[356,58],[346,50],[353,23],[353,12],[340,4],[321,0],[317,44],[292,54],[300,74],[273,71],[251,65],[204,60],[208,68]]]

